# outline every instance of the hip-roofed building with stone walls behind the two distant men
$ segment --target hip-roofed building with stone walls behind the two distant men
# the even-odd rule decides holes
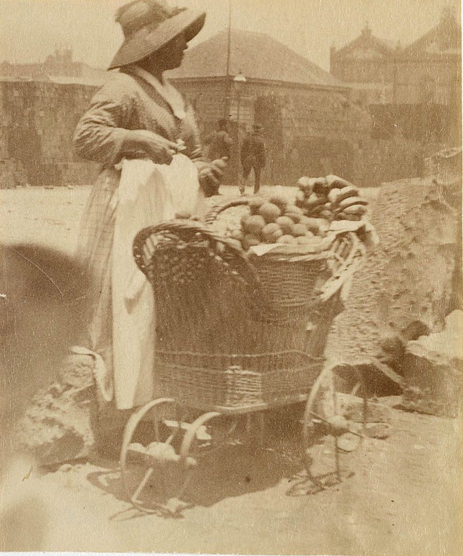
[[[230,119],[233,177],[252,122],[264,129],[267,183],[353,175],[352,141],[369,134],[370,116],[347,100],[349,87],[268,35],[218,33],[189,49],[170,78],[195,106],[204,133],[218,118]]]

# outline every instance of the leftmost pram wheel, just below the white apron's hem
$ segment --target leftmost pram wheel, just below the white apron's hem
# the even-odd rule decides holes
[[[181,461],[178,450],[187,423],[182,408],[172,399],[153,400],[127,421],[121,449],[121,475],[127,499],[146,513],[171,513],[166,504],[180,498],[190,471],[191,458]],[[137,438],[140,424],[143,435]]]

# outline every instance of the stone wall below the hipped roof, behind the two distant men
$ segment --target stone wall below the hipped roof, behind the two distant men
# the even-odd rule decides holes
[[[346,175],[347,151],[355,148],[347,145],[370,132],[368,113],[336,88],[250,80],[238,91],[222,79],[178,80],[176,85],[195,106],[203,136],[218,118],[230,119],[234,180],[240,167],[238,145],[254,121],[264,128],[268,164],[263,181],[270,184],[293,183],[303,173]]]

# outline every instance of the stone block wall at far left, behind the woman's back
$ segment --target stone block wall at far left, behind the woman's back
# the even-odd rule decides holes
[[[3,187],[64,185],[93,180],[96,165],[74,156],[72,135],[94,87],[31,81],[0,82],[0,159]],[[17,168],[21,168],[18,175]],[[12,173],[13,172],[13,173]]]

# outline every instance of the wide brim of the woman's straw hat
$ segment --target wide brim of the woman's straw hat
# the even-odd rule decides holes
[[[139,62],[165,46],[181,33],[185,33],[187,42],[191,41],[201,31],[205,19],[205,12],[186,9],[176,16],[166,19],[152,31],[147,27],[143,27],[140,31],[133,34],[132,37],[125,39],[108,69],[116,69]]]

